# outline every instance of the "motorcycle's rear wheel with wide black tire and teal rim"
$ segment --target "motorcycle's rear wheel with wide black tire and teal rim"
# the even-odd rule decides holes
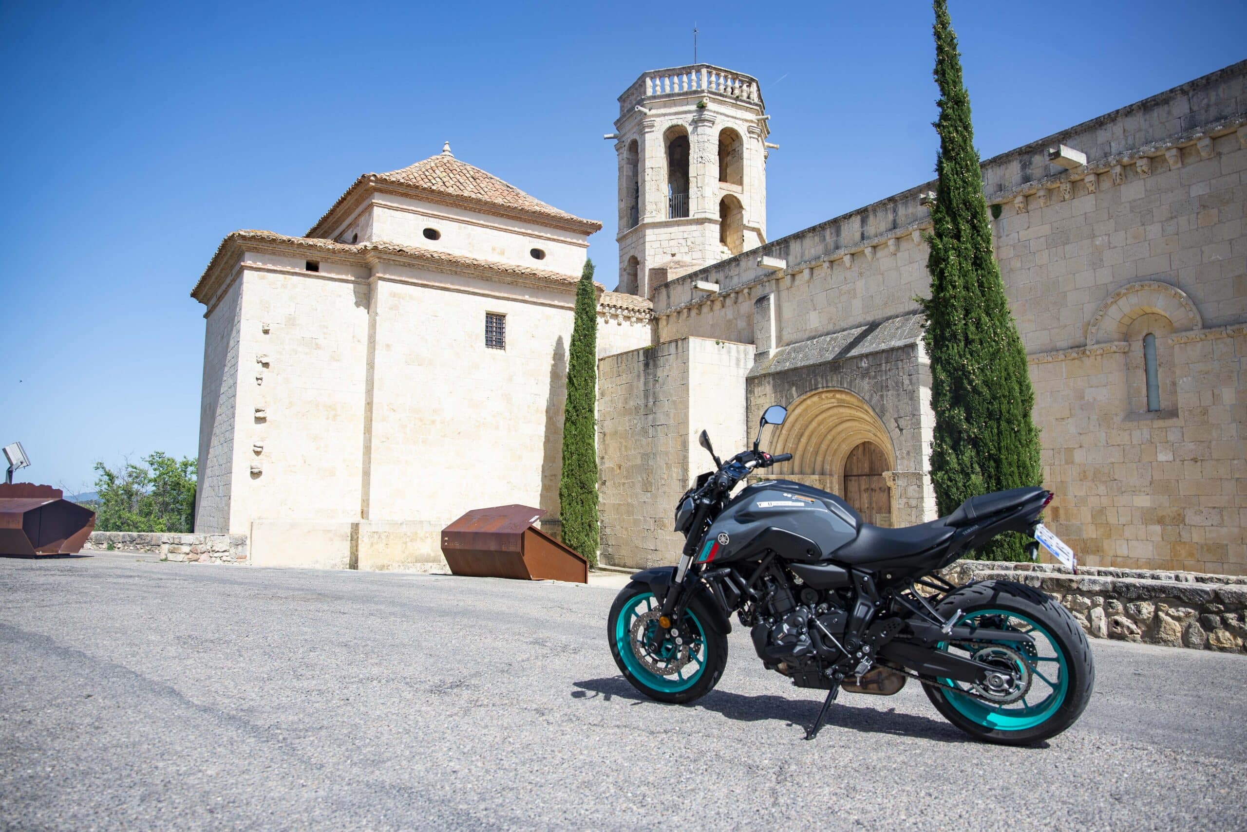
[[[927,696],[944,719],[970,736],[1000,745],[1031,745],[1074,725],[1091,699],[1095,665],[1087,636],[1070,612],[1038,589],[1010,580],[963,587],[938,607],[945,617],[958,609],[963,613],[958,624],[1030,631],[1035,644],[1024,655],[1013,653],[1005,643],[976,651],[941,644],[944,650],[999,663],[1026,680],[1020,700],[1005,701],[1020,691],[1019,680],[1015,691],[1000,694],[999,701],[993,702],[923,683]],[[973,688],[950,679],[941,681],[963,690]]]

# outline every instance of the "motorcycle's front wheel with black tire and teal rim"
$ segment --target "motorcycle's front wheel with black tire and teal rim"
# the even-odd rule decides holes
[[[668,638],[658,653],[646,645],[660,604],[647,584],[631,582],[620,590],[606,619],[611,656],[628,683],[650,699],[683,705],[701,699],[718,684],[727,666],[727,636],[712,626],[713,612],[696,597],[677,629],[687,635],[677,645]],[[683,651],[687,648],[687,653]]]

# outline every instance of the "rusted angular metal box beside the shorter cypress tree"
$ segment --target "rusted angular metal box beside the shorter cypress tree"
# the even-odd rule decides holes
[[[456,575],[589,583],[589,562],[532,526],[531,506],[476,508],[441,529],[441,553]]]

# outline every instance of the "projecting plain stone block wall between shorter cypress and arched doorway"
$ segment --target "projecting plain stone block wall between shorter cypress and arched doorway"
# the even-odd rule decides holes
[[[676,499],[720,456],[744,447],[744,375],[753,347],[686,339],[597,362],[601,554],[607,565],[675,563]]]

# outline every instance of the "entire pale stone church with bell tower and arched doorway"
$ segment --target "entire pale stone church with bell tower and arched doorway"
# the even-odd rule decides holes
[[[1049,518],[1089,565],[1247,573],[1247,61],[983,163],[1035,385]],[[769,115],[710,65],[619,98],[599,289],[602,559],[671,563],[706,428],[868,519],[935,516],[914,296],[934,183],[768,240]],[[196,532],[252,562],[440,565],[469,508],[559,512],[575,283],[601,224],[440,154],[303,237],[243,230],[206,306]],[[1240,401],[1242,400],[1242,401]],[[773,430],[773,428],[772,428]]]

